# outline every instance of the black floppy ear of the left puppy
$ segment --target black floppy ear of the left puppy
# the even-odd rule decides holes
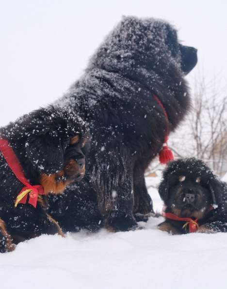
[[[64,152],[57,131],[32,135],[26,144],[26,155],[39,173],[54,174],[63,168]]]

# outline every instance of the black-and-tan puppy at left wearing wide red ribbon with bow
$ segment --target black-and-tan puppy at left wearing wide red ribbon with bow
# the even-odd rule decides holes
[[[41,233],[63,235],[45,195],[82,179],[87,137],[80,118],[51,106],[0,128],[0,252]]]

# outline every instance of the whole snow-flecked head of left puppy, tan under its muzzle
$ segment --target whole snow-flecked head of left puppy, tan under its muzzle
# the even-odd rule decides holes
[[[83,178],[89,136],[74,113],[53,106],[35,110],[13,124],[10,137],[26,174],[46,193],[60,193]]]

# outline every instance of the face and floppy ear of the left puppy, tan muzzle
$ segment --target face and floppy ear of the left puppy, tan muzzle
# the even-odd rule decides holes
[[[37,129],[28,140],[27,159],[45,193],[58,194],[83,178],[89,137],[85,123],[66,111],[39,110],[38,118]]]

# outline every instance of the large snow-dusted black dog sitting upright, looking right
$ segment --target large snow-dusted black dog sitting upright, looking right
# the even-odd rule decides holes
[[[124,17],[57,102],[79,114],[91,130],[81,187],[97,195],[106,227],[130,230],[137,226],[137,214],[152,212],[144,172],[189,109],[184,76],[196,62],[196,49],[179,44],[168,23]],[[68,208],[71,230],[75,207]]]

